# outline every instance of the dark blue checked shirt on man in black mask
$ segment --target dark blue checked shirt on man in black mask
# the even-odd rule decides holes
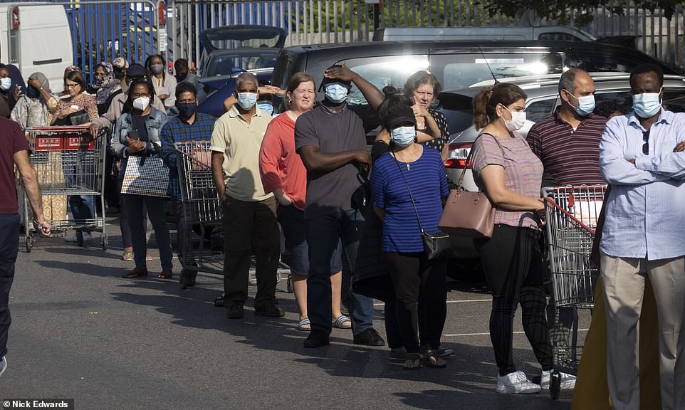
[[[195,121],[192,124],[188,124],[181,117],[172,117],[162,127],[162,158],[169,167],[169,189],[167,193],[170,197],[181,199],[181,185],[174,143],[211,140],[211,131],[214,129],[215,121],[216,118],[209,114],[196,112]]]

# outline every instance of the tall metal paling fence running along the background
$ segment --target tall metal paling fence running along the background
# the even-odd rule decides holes
[[[376,0],[376,4],[374,0],[47,1],[64,4],[73,33],[75,63],[86,73],[103,60],[123,56],[130,62],[142,62],[160,51],[167,61],[187,58],[197,63],[199,33],[231,24],[285,28],[286,46],[368,41],[377,27],[555,24],[528,14],[519,19],[491,16],[487,12],[491,0]],[[613,1],[610,7],[621,4]],[[599,37],[635,36],[639,50],[685,67],[682,7],[671,19],[665,19],[660,10],[651,13],[634,4],[624,10],[619,16],[606,8],[597,9],[594,21],[583,29]]]

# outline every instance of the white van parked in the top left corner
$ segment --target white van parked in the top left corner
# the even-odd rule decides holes
[[[0,62],[14,64],[24,81],[40,71],[53,92],[73,64],[71,30],[63,5],[0,3]]]

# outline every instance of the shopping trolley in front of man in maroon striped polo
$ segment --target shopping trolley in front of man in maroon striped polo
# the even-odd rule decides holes
[[[577,374],[582,353],[577,310],[595,306],[597,266],[590,260],[590,253],[605,190],[606,185],[543,189],[555,317],[560,308],[572,308],[570,337],[565,340],[552,337],[555,370],[570,374]],[[553,377],[550,385],[554,399],[559,394],[558,380],[558,375]]]

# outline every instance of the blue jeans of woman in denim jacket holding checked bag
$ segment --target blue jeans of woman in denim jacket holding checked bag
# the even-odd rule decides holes
[[[131,228],[131,239],[133,241],[133,260],[136,268],[147,269],[147,241],[145,238],[144,212],[147,207],[147,217],[152,222],[155,229],[157,246],[160,247],[160,259],[162,268],[172,268],[171,236],[167,226],[167,216],[164,212],[166,201],[153,196],[122,194],[122,203],[128,214],[128,225]]]

